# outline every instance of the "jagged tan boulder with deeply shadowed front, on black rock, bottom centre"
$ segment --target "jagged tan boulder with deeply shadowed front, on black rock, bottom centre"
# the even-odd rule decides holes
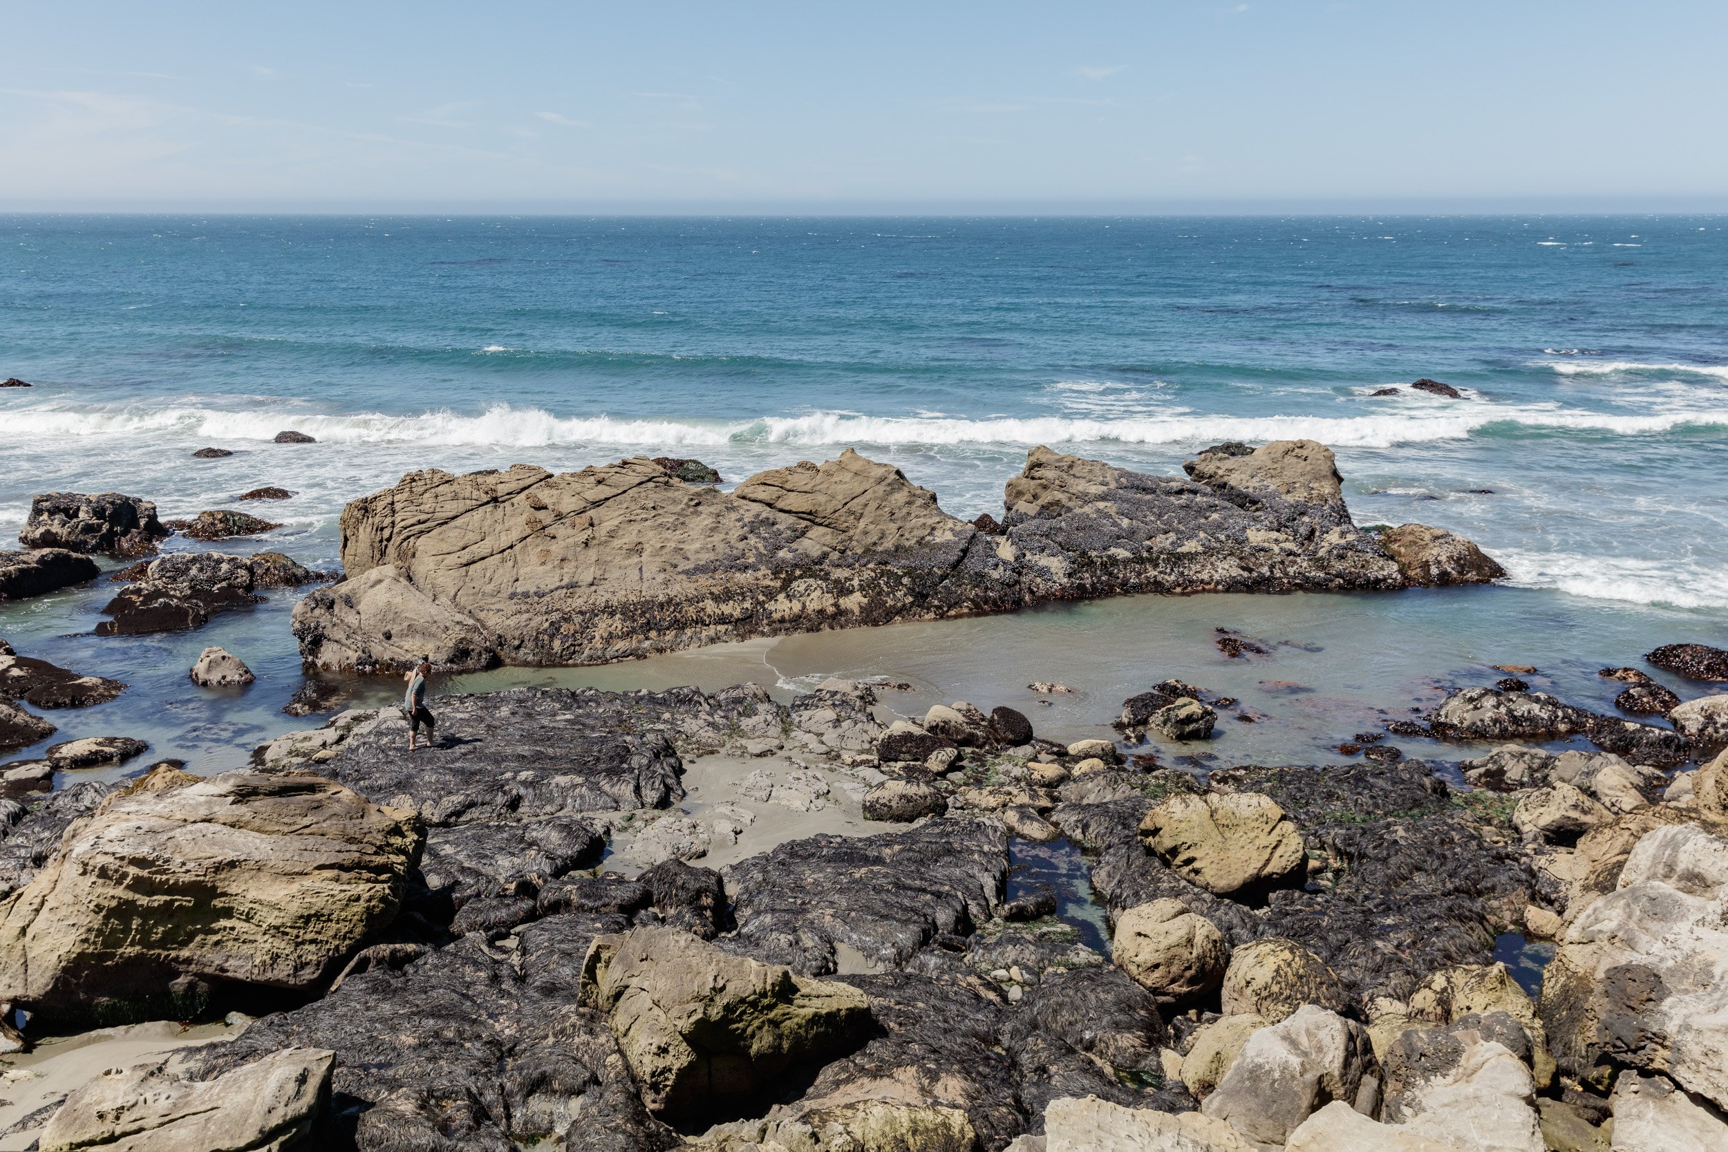
[[[857,988],[727,955],[689,933],[638,927],[600,938],[582,965],[582,1000],[605,1012],[643,1102],[700,1117],[771,1090],[864,1040]]]

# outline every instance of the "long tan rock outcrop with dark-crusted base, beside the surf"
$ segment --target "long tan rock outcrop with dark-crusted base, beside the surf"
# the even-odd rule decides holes
[[[1196,480],[1033,449],[999,532],[847,451],[733,492],[632,458],[406,475],[342,513],[344,584],[295,608],[309,665],[600,663],[752,636],[1116,592],[1396,589],[1332,454],[1206,453]],[[994,523],[994,522],[992,522]],[[1426,579],[1426,577],[1424,577]]]

